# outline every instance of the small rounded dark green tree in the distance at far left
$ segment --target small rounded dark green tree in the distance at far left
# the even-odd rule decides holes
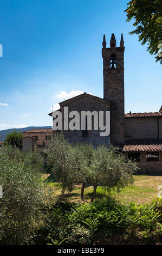
[[[22,148],[22,138],[23,134],[18,131],[10,132],[7,136],[5,136],[4,145],[11,145],[12,147]]]

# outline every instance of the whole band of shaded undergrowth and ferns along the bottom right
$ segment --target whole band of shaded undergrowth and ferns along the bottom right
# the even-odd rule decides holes
[[[132,239],[135,244],[155,244],[157,239],[160,243],[161,212],[161,199],[138,206],[133,202],[123,205],[112,197],[105,197],[94,203],[75,204],[72,210],[64,212],[61,208],[53,209],[50,237],[57,241],[66,238],[63,245],[102,245],[116,236],[122,237],[123,244]]]

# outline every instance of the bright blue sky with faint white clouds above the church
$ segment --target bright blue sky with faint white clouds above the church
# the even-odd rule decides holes
[[[129,35],[125,0],[0,2],[0,130],[51,125],[51,106],[81,92],[103,97],[102,38],[125,41],[125,112],[162,105],[161,66]],[[78,92],[79,91],[79,92]]]

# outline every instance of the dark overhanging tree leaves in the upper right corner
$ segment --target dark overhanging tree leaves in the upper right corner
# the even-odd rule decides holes
[[[139,35],[141,44],[148,44],[147,51],[157,54],[162,43],[162,4],[161,0],[132,0],[128,4],[127,21],[134,19],[134,31],[129,34]],[[162,63],[162,57],[155,57]]]

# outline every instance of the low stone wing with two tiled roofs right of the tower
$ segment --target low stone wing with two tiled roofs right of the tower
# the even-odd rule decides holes
[[[138,161],[140,173],[162,174],[162,107],[154,113],[125,114],[122,151]]]

